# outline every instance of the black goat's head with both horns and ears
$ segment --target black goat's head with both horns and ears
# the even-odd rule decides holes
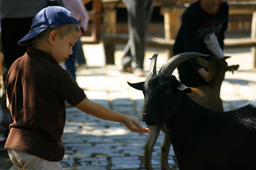
[[[177,102],[181,98],[176,95],[176,91],[182,93],[191,92],[190,88],[186,87],[172,75],[173,71],[188,59],[208,56],[193,52],[175,55],[163,64],[157,74],[157,55],[154,54],[153,58],[151,58],[150,71],[145,82],[128,82],[129,86],[143,91],[145,100],[141,117],[142,121],[146,122],[149,126],[161,126],[177,111],[177,104],[170,104],[182,103],[181,101]]]

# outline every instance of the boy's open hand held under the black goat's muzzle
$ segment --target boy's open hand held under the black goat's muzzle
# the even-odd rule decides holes
[[[138,120],[132,116],[125,117],[124,125],[132,132],[150,133],[148,128],[142,127],[142,124],[140,124],[140,122],[138,122]]]

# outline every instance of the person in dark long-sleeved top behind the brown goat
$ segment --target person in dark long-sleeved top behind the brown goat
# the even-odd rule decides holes
[[[229,5],[225,1],[199,0],[192,3],[182,14],[173,54],[197,52],[223,58],[228,15]],[[186,86],[197,87],[208,81],[207,70],[196,59],[180,64],[178,73]]]

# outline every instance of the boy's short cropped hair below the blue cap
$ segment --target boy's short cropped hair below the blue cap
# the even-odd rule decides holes
[[[39,33],[37,36],[34,37],[33,43],[39,39],[45,38],[49,36],[49,34],[53,31],[56,30],[59,33],[59,36],[63,38],[64,36],[70,34],[71,32],[77,31],[80,33],[80,27],[76,23],[70,23],[70,24],[64,24],[64,25],[59,25],[56,27],[50,27]]]

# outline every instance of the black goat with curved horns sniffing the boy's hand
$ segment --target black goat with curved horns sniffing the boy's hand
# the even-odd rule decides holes
[[[172,75],[180,63],[202,56],[176,55],[159,74],[153,56],[146,81],[128,83],[143,91],[142,120],[167,131],[181,170],[256,169],[256,102],[227,112],[205,108]]]

